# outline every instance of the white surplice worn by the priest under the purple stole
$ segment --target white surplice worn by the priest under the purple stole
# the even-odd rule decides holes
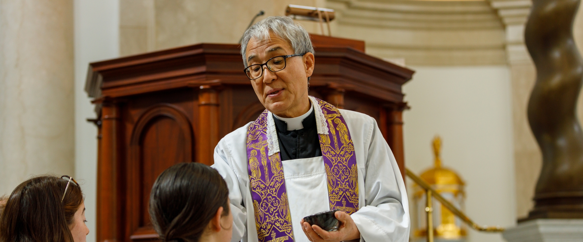
[[[319,134],[328,132],[314,98]],[[377,122],[363,113],[340,109],[354,144],[359,175],[359,211],[350,215],[360,232],[360,241],[409,241],[409,204],[405,183]],[[279,152],[272,113],[268,115],[269,155]],[[215,165],[229,187],[233,213],[231,241],[258,242],[253,199],[247,169],[247,129],[250,123],[227,134],[215,148]],[[300,220],[330,209],[322,156],[282,161],[296,242],[307,242]],[[266,238],[271,240],[271,238]]]

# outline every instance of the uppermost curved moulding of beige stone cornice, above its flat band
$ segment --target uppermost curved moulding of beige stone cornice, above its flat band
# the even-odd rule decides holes
[[[486,1],[384,2],[328,0],[340,24],[417,30],[500,29],[502,23]]]

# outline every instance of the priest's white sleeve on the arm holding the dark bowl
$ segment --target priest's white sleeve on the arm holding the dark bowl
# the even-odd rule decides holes
[[[409,241],[409,202],[395,156],[371,118],[366,176],[365,205],[351,215],[360,241]]]

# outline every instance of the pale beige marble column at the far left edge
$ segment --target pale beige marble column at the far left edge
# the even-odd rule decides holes
[[[72,175],[73,2],[0,1],[0,195]]]

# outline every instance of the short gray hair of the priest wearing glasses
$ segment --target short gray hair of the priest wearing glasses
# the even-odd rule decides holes
[[[247,67],[247,59],[245,59],[245,52],[247,51],[247,44],[251,38],[257,40],[269,40],[269,32],[277,35],[279,38],[289,42],[293,48],[294,54],[305,54],[311,52],[314,54],[314,47],[310,40],[310,34],[305,31],[304,27],[299,23],[294,23],[291,17],[287,16],[272,16],[253,24],[243,34],[243,41],[241,41],[241,55],[243,55],[243,64]]]

